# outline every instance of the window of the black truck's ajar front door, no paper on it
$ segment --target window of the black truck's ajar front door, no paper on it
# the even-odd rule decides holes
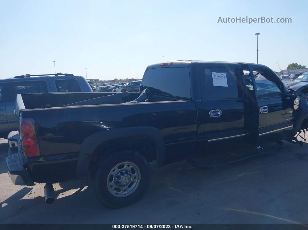
[[[281,80],[269,70],[253,68],[253,75],[258,99],[282,96]]]

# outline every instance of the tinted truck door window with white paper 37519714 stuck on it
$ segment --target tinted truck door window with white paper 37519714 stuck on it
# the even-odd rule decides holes
[[[204,71],[206,99],[237,99],[242,97],[236,68],[211,67]]]

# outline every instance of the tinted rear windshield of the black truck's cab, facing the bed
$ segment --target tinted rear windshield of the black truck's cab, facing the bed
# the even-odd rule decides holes
[[[151,93],[190,98],[188,68],[154,68],[144,73],[140,91],[151,88]]]

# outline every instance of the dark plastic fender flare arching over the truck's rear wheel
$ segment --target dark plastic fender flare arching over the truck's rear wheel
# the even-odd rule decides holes
[[[165,160],[164,141],[160,131],[154,127],[125,127],[102,130],[85,138],[79,150],[79,158],[76,166],[76,178],[84,179],[87,175],[91,157],[95,150],[105,142],[119,138],[132,138],[143,136],[151,138],[156,151],[156,167],[162,166]]]

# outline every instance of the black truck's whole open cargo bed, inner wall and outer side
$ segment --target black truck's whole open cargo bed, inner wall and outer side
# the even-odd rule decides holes
[[[197,139],[197,114],[192,100],[153,96],[145,103],[61,107],[112,94],[23,94],[18,95],[16,113],[34,119],[42,156],[79,152],[87,136],[120,127],[155,127],[161,131],[166,144],[172,144],[178,138],[180,142]],[[129,93],[124,102],[132,101],[139,95]]]

